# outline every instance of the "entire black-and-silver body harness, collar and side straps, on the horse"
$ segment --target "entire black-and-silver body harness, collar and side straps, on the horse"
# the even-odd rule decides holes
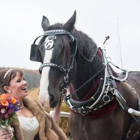
[[[129,129],[128,129],[128,132],[123,137],[123,140],[135,138],[140,133],[140,127],[133,134],[133,136],[130,137],[130,135],[132,133],[133,126],[136,124],[140,125],[140,117],[139,117],[140,116],[140,114],[139,114],[140,113],[140,99],[139,99],[139,96],[136,93],[135,89],[133,87],[131,87],[131,85],[129,85],[126,81],[129,72],[126,70],[123,70],[123,73],[125,73],[125,77],[123,79],[121,79],[119,77],[114,77],[111,72],[111,69],[110,69],[111,62],[106,61],[106,58],[105,58],[105,55],[103,52],[102,52],[102,54],[104,57],[103,64],[105,65],[105,67],[103,67],[99,72],[97,72],[94,76],[92,76],[88,81],[86,81],[80,88],[75,90],[72,94],[67,95],[65,97],[65,102],[66,102],[68,108],[70,110],[72,110],[72,112],[80,113],[81,115],[86,116],[86,115],[88,115],[88,113],[99,110],[100,108],[104,107],[105,105],[107,105],[108,103],[110,103],[114,99],[116,99],[116,101],[119,103],[121,108],[132,116],[132,120],[131,120]],[[113,63],[111,63],[111,64],[114,65]],[[116,65],[114,65],[114,66],[116,68],[120,69]],[[98,90],[96,91],[96,93],[94,93],[93,96],[90,97],[90,99],[88,99],[86,101],[75,101],[72,99],[72,95],[74,95],[79,89],[81,89],[83,86],[85,86],[85,84],[87,84],[89,81],[91,81],[91,79],[94,79],[97,75],[99,75],[103,70],[105,71],[104,78],[100,79],[101,81],[103,81],[102,82],[103,84],[102,84],[102,87],[101,87],[101,84],[99,84],[99,87],[98,87],[98,89],[102,88],[102,92],[96,98],[95,98],[95,95],[98,92]],[[116,82],[125,82],[125,84],[127,86],[129,86],[130,89],[134,92],[134,94],[137,97],[137,101],[138,101],[138,111],[133,110],[132,108],[129,108],[129,106],[126,103],[126,100],[123,98],[121,93],[118,91],[117,86],[115,84]]]

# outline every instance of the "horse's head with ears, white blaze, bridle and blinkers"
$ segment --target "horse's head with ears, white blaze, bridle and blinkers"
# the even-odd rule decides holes
[[[76,53],[76,38],[71,34],[75,21],[76,11],[65,24],[50,25],[49,19],[43,16],[44,34],[37,37],[31,47],[30,59],[42,63],[39,100],[45,107],[60,103],[62,83],[68,82],[67,74],[73,67],[71,61]]]

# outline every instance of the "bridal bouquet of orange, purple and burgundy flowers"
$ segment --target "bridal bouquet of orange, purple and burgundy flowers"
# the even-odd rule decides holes
[[[12,97],[10,94],[0,95],[0,130],[8,129],[13,136],[13,128],[10,126],[11,121],[18,121],[15,111],[20,110],[20,105],[16,97]]]

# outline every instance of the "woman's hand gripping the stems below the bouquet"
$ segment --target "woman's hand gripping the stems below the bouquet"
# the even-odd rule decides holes
[[[12,139],[12,133],[10,133],[7,129],[0,130],[0,140],[11,140]]]

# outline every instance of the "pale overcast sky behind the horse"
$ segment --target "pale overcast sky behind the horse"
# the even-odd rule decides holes
[[[120,68],[140,70],[140,0],[0,0],[0,67],[38,69],[30,47],[43,34],[42,16],[65,23],[76,10],[75,27]]]

